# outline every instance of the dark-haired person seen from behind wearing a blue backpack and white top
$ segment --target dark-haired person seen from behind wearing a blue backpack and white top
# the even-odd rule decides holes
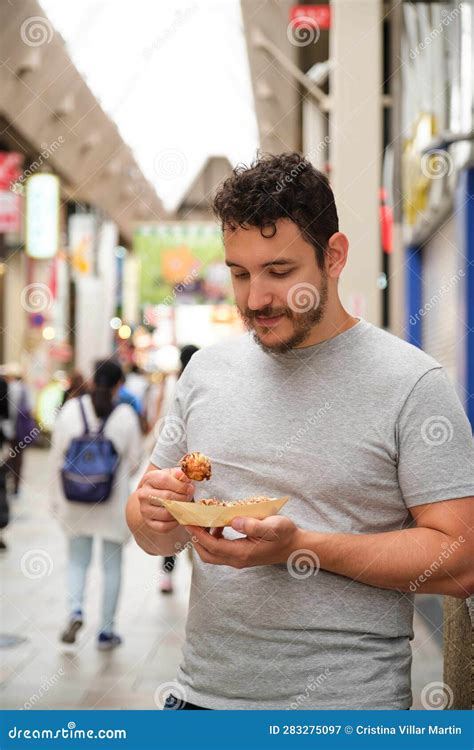
[[[120,365],[99,362],[90,394],[67,401],[52,435],[53,511],[68,538],[69,621],[61,634],[72,644],[84,622],[84,591],[94,537],[102,542],[104,590],[97,645],[119,646],[114,618],[120,593],[122,548],[129,537],[125,505],[130,477],[142,458],[136,412],[118,401]]]

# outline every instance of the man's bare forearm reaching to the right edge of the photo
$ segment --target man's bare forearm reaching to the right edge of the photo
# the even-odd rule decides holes
[[[466,598],[474,593],[464,537],[414,528],[381,534],[300,531],[298,546],[310,549],[321,568],[380,588]]]

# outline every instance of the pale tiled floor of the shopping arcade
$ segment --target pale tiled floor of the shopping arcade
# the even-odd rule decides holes
[[[3,708],[140,708],[161,704],[172,682],[184,638],[190,564],[178,561],[176,592],[157,593],[159,562],[129,543],[118,630],[121,648],[98,652],[95,646],[100,606],[99,566],[88,584],[87,623],[79,645],[68,652],[58,642],[65,622],[65,541],[48,514],[47,452],[26,455],[22,497],[12,503],[13,521],[2,555],[0,632],[25,641],[0,649],[0,704]],[[32,552],[34,551],[34,552]],[[434,597],[420,597],[413,642],[414,708],[422,707],[424,685],[442,679],[437,607]],[[424,601],[424,603],[423,603]],[[430,605],[430,606],[428,606]]]

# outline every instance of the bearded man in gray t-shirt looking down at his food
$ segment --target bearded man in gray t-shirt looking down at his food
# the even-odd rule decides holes
[[[413,592],[474,592],[470,426],[437,362],[342,306],[348,240],[309,162],[237,168],[215,210],[249,333],[193,357],[128,504],[149,554],[193,545],[167,705],[409,708]],[[192,450],[205,486],[176,468]],[[290,500],[221,536],[157,507],[193,493]]]

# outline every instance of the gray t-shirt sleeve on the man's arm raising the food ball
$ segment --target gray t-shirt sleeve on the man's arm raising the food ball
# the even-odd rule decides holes
[[[166,415],[159,419],[155,425],[154,431],[157,440],[150,456],[150,463],[160,469],[178,466],[184,454],[188,452],[184,406],[188,369],[190,369],[190,365],[176,384]]]

